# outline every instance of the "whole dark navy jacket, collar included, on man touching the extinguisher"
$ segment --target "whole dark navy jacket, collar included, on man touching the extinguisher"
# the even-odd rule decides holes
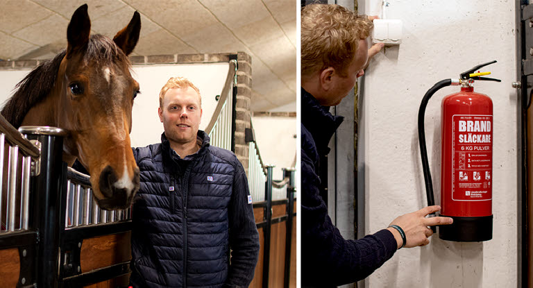
[[[319,155],[342,122],[302,88],[302,287],[335,287],[369,276],[396,251],[394,235],[380,230],[346,240],[328,216],[319,194]]]

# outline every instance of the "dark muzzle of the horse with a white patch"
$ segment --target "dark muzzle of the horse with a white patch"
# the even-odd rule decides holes
[[[104,210],[126,209],[130,207],[135,193],[139,190],[139,168],[135,167],[133,178],[126,171],[120,179],[111,166],[105,167],[100,173],[99,189],[103,195],[98,205]]]

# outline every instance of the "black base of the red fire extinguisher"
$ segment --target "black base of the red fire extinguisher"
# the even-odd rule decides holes
[[[453,223],[439,226],[439,238],[455,242],[482,242],[492,239],[493,216],[450,217]]]

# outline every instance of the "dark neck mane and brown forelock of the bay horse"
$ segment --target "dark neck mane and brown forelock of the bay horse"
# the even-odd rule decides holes
[[[130,68],[128,56],[108,37],[100,34],[90,36],[84,52],[83,62],[94,61],[99,65],[108,65],[112,62],[122,62]],[[9,121],[12,126],[19,128],[28,111],[42,101],[56,84],[58,71],[67,51],[63,49],[50,60],[42,62],[35,67],[22,81],[15,85],[17,90],[3,106],[0,114]]]

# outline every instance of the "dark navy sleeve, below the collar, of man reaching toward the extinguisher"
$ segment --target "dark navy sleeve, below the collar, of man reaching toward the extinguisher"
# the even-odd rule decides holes
[[[380,230],[355,241],[344,239],[328,216],[328,208],[319,195],[319,176],[305,151],[301,167],[303,285],[344,285],[366,278],[396,252],[394,235]]]

